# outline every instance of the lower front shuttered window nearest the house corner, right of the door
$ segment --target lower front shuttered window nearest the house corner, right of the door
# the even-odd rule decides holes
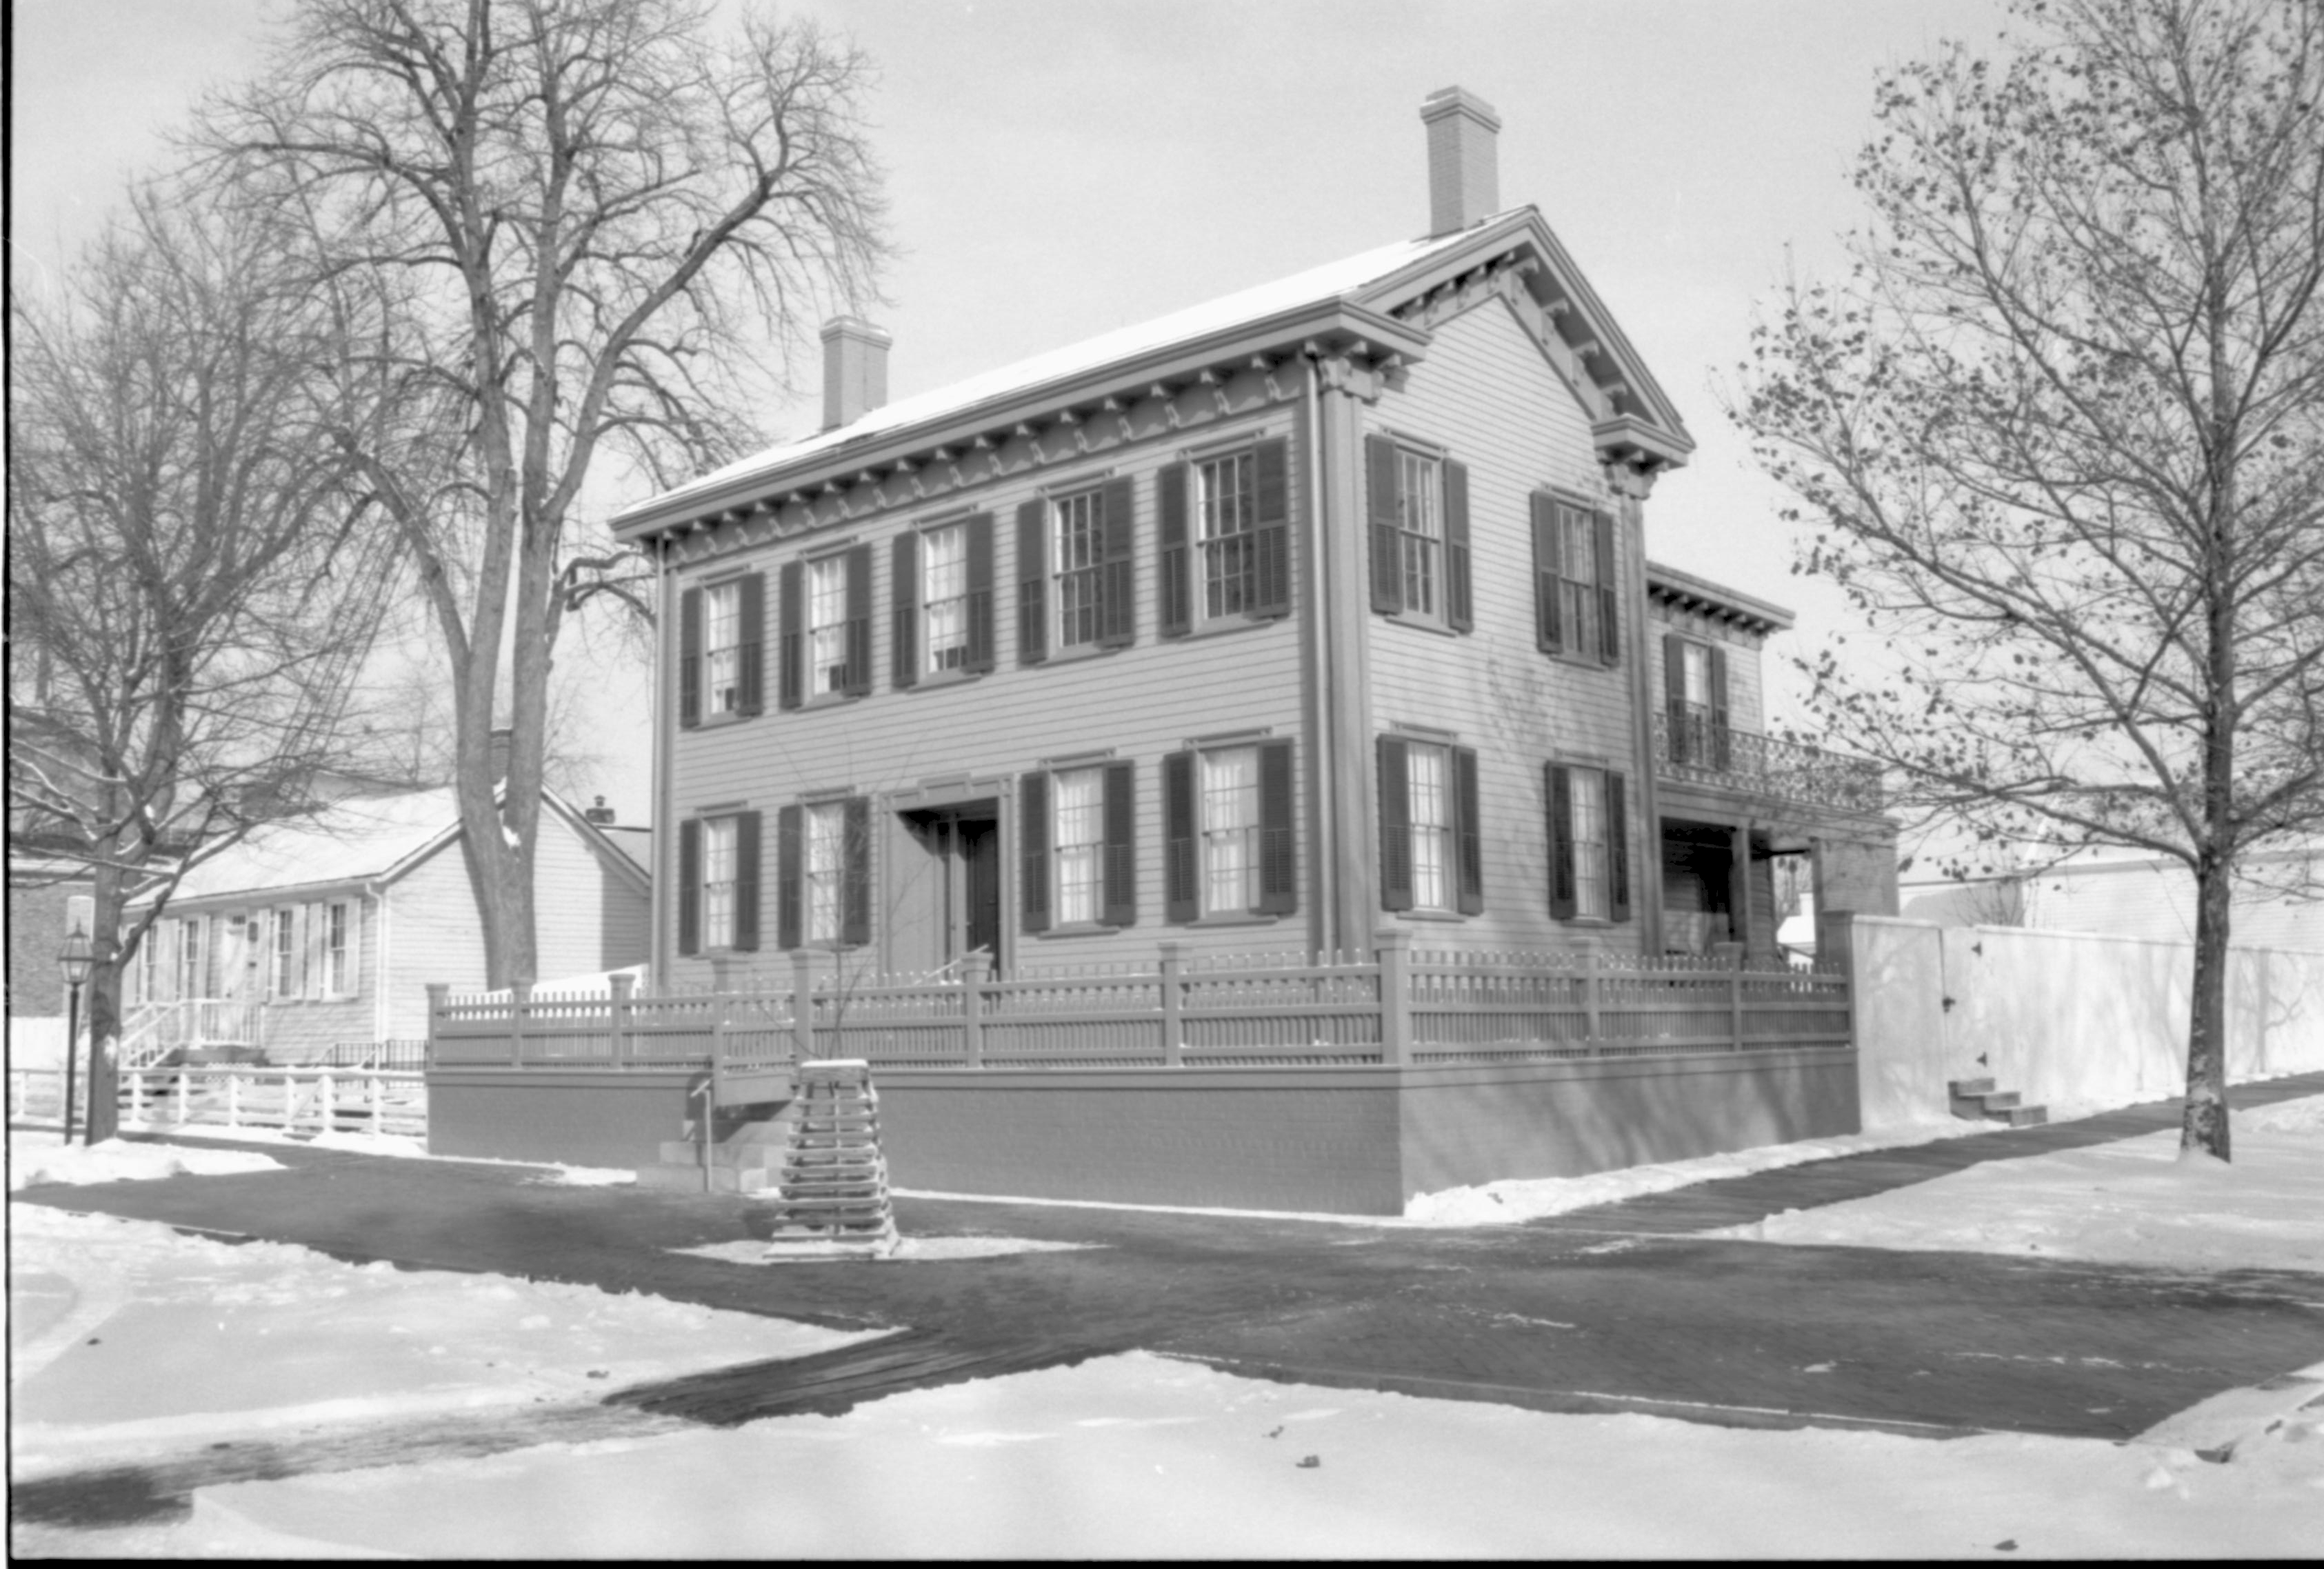
[[[1292,744],[1222,741],[1162,760],[1167,918],[1299,909]]]

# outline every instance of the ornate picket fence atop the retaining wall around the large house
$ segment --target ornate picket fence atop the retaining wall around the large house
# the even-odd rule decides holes
[[[1699,958],[1413,951],[1369,960],[1176,944],[1143,969],[846,976],[795,955],[788,990],[604,995],[430,988],[435,1069],[732,1067],[865,1058],[892,1069],[1353,1067],[1850,1046],[1848,979]]]

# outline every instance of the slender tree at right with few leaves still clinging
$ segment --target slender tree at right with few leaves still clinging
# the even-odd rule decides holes
[[[2226,1158],[2229,881],[2324,825],[2324,7],[2020,12],[1882,77],[1855,272],[1734,414],[1887,639],[1806,662],[1831,732],[1987,839],[2194,872],[2182,1148]]]

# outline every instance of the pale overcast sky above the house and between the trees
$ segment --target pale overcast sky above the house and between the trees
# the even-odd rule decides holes
[[[53,267],[207,81],[256,67],[263,0],[14,0],[12,267]],[[874,318],[890,395],[1427,230],[1420,100],[1501,114],[1501,202],[1541,207],[1678,402],[1694,460],[1648,504],[1655,560],[1801,611],[1780,495],[1713,393],[1755,302],[1831,272],[1873,74],[1992,0],[811,0],[881,65],[871,100],[904,251]],[[816,367],[795,367],[802,386]],[[762,411],[809,432],[806,402]],[[1773,674],[1773,672],[1771,672]],[[644,686],[602,681],[595,783],[646,811]]]

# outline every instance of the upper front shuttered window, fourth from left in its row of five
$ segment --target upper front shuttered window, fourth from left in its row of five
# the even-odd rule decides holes
[[[1018,658],[1134,639],[1132,483],[1109,479],[1018,507]]]

